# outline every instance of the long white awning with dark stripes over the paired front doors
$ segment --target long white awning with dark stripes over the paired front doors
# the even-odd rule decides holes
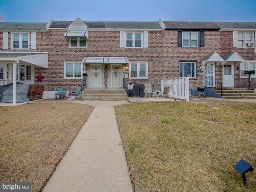
[[[128,64],[126,57],[86,57],[83,63]]]

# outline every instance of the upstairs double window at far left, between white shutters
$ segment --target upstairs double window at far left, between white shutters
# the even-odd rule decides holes
[[[13,33],[11,46],[12,49],[29,49],[29,34]]]

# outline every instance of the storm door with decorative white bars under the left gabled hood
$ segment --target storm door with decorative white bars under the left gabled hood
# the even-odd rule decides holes
[[[206,63],[204,64],[204,86],[214,87],[215,86],[215,64]]]

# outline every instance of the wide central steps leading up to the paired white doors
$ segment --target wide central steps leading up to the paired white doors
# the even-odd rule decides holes
[[[127,100],[124,89],[84,89],[82,100]]]

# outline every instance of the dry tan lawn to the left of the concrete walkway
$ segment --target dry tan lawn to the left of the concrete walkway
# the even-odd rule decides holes
[[[32,182],[40,192],[92,109],[63,102],[0,107],[0,181]]]

